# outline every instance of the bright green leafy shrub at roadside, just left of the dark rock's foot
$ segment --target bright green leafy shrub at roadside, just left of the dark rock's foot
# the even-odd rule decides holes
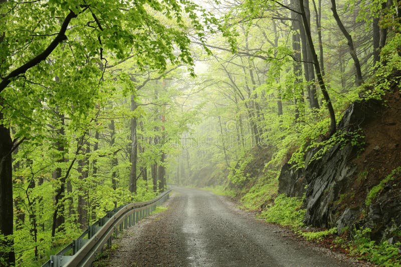
[[[287,197],[280,194],[274,200],[274,205],[264,210],[260,216],[268,222],[297,228],[303,226],[305,209],[301,208],[303,197]]]

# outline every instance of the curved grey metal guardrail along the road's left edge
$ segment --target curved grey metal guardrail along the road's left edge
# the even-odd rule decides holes
[[[52,255],[42,267],[90,266],[105,244],[111,245],[111,236],[114,232],[127,229],[150,215],[158,205],[168,199],[170,192],[171,189],[152,200],[125,204],[108,211],[77,239],[56,255]]]

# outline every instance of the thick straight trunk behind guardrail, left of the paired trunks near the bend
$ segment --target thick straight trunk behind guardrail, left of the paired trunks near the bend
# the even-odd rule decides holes
[[[135,111],[137,108],[137,103],[134,98],[134,94],[131,95],[131,111]],[[137,117],[136,115],[132,115],[130,120],[130,130],[131,130],[131,150],[130,150],[130,161],[131,161],[131,171],[129,173],[129,191],[136,192],[136,168],[137,168],[137,161],[138,161],[138,141],[136,136],[136,125],[137,124]]]

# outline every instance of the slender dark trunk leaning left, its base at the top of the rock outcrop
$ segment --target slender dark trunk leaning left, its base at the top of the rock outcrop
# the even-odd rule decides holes
[[[331,103],[329,93],[326,90],[326,84],[324,83],[322,72],[320,71],[319,59],[317,58],[315,46],[313,45],[312,35],[311,35],[310,28],[308,25],[308,20],[306,19],[305,8],[304,8],[304,4],[303,4],[302,0],[299,1],[299,5],[300,5],[300,9],[301,9],[301,16],[302,16],[302,21],[303,21],[304,28],[305,28],[305,33],[308,38],[308,43],[309,43],[310,49],[312,51],[313,63],[315,65],[317,80],[319,81],[320,89],[322,90],[322,94],[323,94],[324,100],[326,101],[327,109],[329,111],[329,116],[330,116],[329,135],[331,136],[336,131],[336,120],[335,120],[334,108]]]

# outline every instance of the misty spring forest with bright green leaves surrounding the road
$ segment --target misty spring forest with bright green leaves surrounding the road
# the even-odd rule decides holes
[[[0,0],[0,265],[167,184],[396,264],[400,8]]]

